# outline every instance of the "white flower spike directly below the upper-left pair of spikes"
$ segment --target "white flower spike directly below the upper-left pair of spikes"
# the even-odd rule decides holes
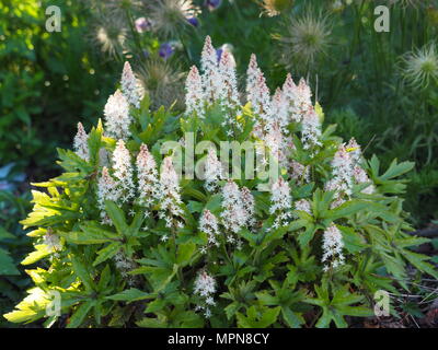
[[[113,152],[113,171],[117,187],[122,194],[122,202],[128,202],[135,196],[132,165],[128,149],[123,140],[118,140]]]

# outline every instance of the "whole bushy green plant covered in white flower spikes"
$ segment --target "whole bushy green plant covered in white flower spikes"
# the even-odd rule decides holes
[[[438,277],[407,248],[427,241],[407,234],[397,197],[413,163],[382,173],[323,128],[304,80],[288,75],[270,96],[255,56],[245,105],[209,37],[200,68],[174,115],[149,110],[125,63],[104,122],[79,124],[74,151],[59,150],[65,173],[35,184],[45,191],[22,222],[35,252],[22,264],[39,265],[10,322],[346,327],[372,315],[377,291],[407,289],[406,264]]]

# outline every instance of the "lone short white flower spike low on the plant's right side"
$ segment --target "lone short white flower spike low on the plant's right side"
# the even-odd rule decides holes
[[[324,271],[336,269],[344,265],[345,258],[343,255],[344,242],[341,231],[332,224],[324,231],[323,236],[323,256],[322,262],[325,262]]]

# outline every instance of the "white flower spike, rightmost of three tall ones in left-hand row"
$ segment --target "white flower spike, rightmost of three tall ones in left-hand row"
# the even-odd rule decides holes
[[[159,218],[164,219],[166,228],[182,228],[180,180],[172,158],[166,156],[161,165],[160,189],[158,201],[160,203]]]

